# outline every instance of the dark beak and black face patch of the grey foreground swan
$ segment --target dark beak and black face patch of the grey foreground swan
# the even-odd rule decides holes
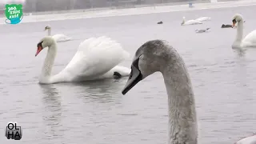
[[[122,94],[125,95],[131,88],[133,88],[138,82],[142,80],[142,73],[138,69],[139,57],[134,60],[131,65],[130,76],[126,82],[126,86],[122,90]]]

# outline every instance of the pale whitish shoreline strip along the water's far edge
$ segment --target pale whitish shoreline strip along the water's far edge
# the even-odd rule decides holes
[[[194,3],[194,2],[193,2]],[[48,21],[60,21],[66,19],[80,19],[80,18],[102,18],[102,17],[115,17],[125,15],[139,15],[139,14],[156,14],[167,13],[175,11],[189,11],[189,10],[207,10],[207,9],[220,9],[227,7],[237,6],[254,6],[256,0],[242,0],[242,1],[227,1],[227,2],[203,2],[194,3],[194,7],[189,7],[188,3],[183,5],[169,5],[169,6],[147,6],[138,8],[126,8],[126,9],[112,9],[105,10],[66,10],[66,13],[56,12],[42,12],[40,14],[33,14],[23,17],[21,23],[26,22],[48,22]],[[72,11],[72,12],[71,12]],[[46,14],[48,13],[48,14]],[[50,14],[49,14],[50,13]],[[0,18],[2,24],[5,23],[6,18]]]

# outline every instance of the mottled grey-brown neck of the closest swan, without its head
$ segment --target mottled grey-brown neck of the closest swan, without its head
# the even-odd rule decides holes
[[[190,75],[179,54],[172,50],[162,66],[169,108],[169,143],[197,144],[198,124]]]

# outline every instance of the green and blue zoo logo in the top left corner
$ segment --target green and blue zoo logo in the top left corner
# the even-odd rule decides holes
[[[22,4],[6,4],[5,13],[7,18],[6,23],[18,24],[23,18]]]

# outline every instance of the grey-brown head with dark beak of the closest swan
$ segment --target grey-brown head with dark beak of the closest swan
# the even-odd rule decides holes
[[[122,94],[126,94],[138,82],[154,72],[162,71],[162,66],[168,57],[166,42],[161,40],[149,41],[138,48],[131,64],[131,71]]]

